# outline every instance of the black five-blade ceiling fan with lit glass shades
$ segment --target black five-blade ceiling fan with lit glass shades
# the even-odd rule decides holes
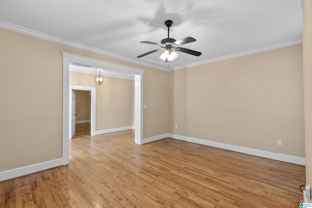
[[[172,24],[173,24],[172,20],[166,20],[165,21],[165,25],[166,25],[166,27],[168,27],[168,38],[162,39],[160,41],[160,43],[150,42],[150,41],[141,41],[142,43],[158,45],[158,46],[160,46],[160,48],[155,49],[155,50],[150,51],[150,52],[147,52],[145,54],[142,54],[142,55],[138,56],[138,58],[144,57],[144,56],[152,54],[154,52],[166,49],[165,52],[159,58],[163,59],[166,62],[166,64],[169,66],[169,62],[173,61],[174,59],[176,59],[176,57],[179,56],[175,51],[191,54],[191,55],[194,55],[196,57],[200,56],[201,53],[198,51],[193,51],[191,49],[179,47],[182,44],[186,44],[189,42],[196,41],[195,38],[187,37],[187,38],[183,38],[183,39],[179,39],[179,40],[176,40],[174,38],[169,38],[169,27],[171,27]]]

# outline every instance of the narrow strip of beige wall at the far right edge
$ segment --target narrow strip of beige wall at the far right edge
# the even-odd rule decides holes
[[[303,1],[303,74],[306,179],[312,185],[312,2]]]

